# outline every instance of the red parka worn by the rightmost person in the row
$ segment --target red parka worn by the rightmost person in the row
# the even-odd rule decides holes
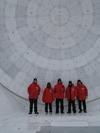
[[[88,89],[84,84],[77,85],[77,100],[86,100]]]

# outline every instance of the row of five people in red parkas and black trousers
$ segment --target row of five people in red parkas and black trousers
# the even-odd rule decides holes
[[[40,95],[41,88],[37,83],[36,78],[34,78],[33,83],[29,85],[27,91],[29,94],[29,103],[30,103],[29,114],[32,114],[33,112],[33,104],[34,104],[34,113],[39,114],[37,100]],[[67,113],[71,113],[71,110],[73,110],[73,113],[76,113],[76,105],[75,105],[76,100],[78,100],[79,113],[81,113],[82,111],[84,111],[84,113],[87,113],[86,99],[88,98],[88,89],[82,83],[81,80],[77,81],[77,86],[75,86],[72,83],[72,81],[69,81],[68,86],[66,88],[63,85],[61,79],[58,79],[57,84],[54,86],[54,88],[52,88],[51,83],[48,82],[42,95],[42,101],[45,103],[45,113],[46,114],[48,112],[52,113],[52,103],[55,100],[56,104],[55,113],[58,114],[59,112],[61,112],[61,114],[64,114],[64,98],[66,98],[66,100],[68,101]]]

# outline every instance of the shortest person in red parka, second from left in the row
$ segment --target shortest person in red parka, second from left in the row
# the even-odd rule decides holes
[[[53,89],[51,87],[51,83],[47,83],[47,87],[43,91],[42,101],[45,103],[45,113],[48,113],[48,106],[49,112],[52,113],[52,102],[54,100]]]

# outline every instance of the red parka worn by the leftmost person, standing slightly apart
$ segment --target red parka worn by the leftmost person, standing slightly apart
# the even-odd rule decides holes
[[[40,95],[40,90],[40,86],[37,83],[33,82],[32,84],[30,84],[27,89],[29,98],[38,99],[38,96]]]

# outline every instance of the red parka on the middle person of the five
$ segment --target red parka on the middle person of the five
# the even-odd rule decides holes
[[[63,99],[65,97],[65,86],[62,83],[57,83],[54,86],[54,97]]]

